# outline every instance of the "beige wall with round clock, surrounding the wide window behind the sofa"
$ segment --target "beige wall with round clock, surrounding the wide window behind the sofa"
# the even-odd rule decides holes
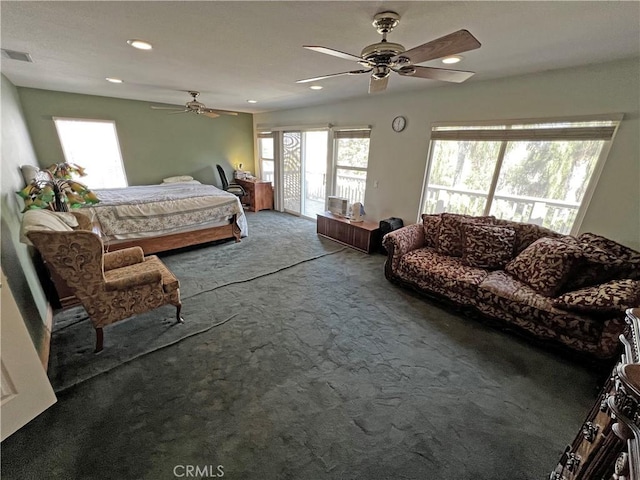
[[[325,88],[360,77],[327,80]],[[391,82],[421,81],[393,77]],[[418,218],[433,122],[552,118],[624,113],[582,223],[591,231],[640,249],[640,62],[638,59],[555,70],[501,80],[383,93],[332,105],[254,115],[255,125],[371,125],[365,207],[373,220]],[[407,117],[401,133],[391,130]],[[374,188],[374,182],[378,188]]]

